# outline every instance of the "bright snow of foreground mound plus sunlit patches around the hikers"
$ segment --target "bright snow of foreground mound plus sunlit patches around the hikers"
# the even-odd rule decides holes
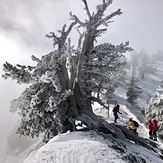
[[[103,115],[112,123],[112,107],[108,112],[106,109],[94,105],[96,114]],[[119,124],[125,125],[129,117],[137,120],[125,106],[121,105],[122,116]],[[139,122],[140,123],[140,122]],[[148,138],[148,130],[140,123],[138,128],[139,136]],[[115,138],[104,139],[94,131],[67,132],[52,138],[46,145],[32,152],[23,163],[126,163],[127,153],[135,157],[142,157],[147,163],[163,162],[157,154],[131,141],[118,140],[125,144],[125,151],[113,149]]]

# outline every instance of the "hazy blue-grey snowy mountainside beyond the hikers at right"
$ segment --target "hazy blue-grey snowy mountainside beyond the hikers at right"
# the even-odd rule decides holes
[[[146,74],[144,80],[139,82],[139,86],[142,88],[142,93],[135,100],[136,104],[130,104],[126,100],[127,85],[126,83],[120,84],[120,86],[114,92],[112,98],[117,100],[119,104],[126,105],[128,109],[137,116],[137,118],[144,121],[144,108],[150,97],[155,96],[156,89],[163,81],[163,62],[155,62],[153,65],[157,71],[154,74]]]

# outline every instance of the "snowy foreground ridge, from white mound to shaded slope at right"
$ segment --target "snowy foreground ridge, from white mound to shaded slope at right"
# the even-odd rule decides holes
[[[132,142],[123,142],[125,146],[121,146],[113,140],[105,140],[93,131],[61,134],[52,138],[34,155],[31,154],[23,163],[126,163],[134,157],[140,162],[162,161],[153,152]]]

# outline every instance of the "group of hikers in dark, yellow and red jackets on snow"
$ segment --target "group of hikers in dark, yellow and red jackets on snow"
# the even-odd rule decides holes
[[[114,115],[115,123],[117,123],[117,119],[119,118],[118,114],[122,114],[122,112],[120,112],[120,105],[117,104],[113,108],[113,115]],[[133,118],[129,118],[128,119],[128,127],[131,131],[133,131],[134,133],[137,133],[137,128],[139,127],[139,124],[138,124],[138,122],[133,120]],[[156,136],[157,121],[155,119],[153,121],[152,121],[152,119],[150,119],[148,121],[148,129],[149,129],[149,139],[157,141],[157,136]]]

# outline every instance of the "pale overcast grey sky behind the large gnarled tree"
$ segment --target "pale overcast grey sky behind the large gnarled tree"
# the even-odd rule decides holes
[[[91,12],[101,2],[88,0]],[[45,34],[67,24],[70,11],[83,18],[83,7],[82,0],[0,0],[0,75],[5,61],[31,64],[31,55],[40,57],[53,50]],[[129,41],[137,51],[163,51],[163,0],[114,0],[106,13],[119,8],[123,14],[113,18],[114,23],[100,42]],[[16,115],[9,114],[10,101],[24,88],[25,85],[0,78],[0,132],[13,127]]]

